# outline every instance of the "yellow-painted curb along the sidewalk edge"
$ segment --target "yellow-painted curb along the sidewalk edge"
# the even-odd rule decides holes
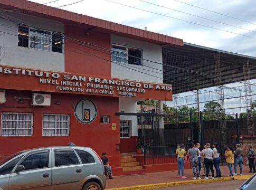
[[[211,182],[226,182],[226,181],[232,181],[232,180],[248,179],[250,177],[251,177],[250,175],[244,175],[244,176],[234,176],[234,177],[223,177],[219,179],[200,179],[200,180],[197,179],[197,180],[187,180],[187,181],[180,181],[180,182],[136,185],[136,186],[129,186],[129,187],[116,187],[116,188],[109,188],[106,190],[143,190],[143,189],[172,187],[172,186],[179,186],[179,185],[204,184],[204,183],[211,183]]]

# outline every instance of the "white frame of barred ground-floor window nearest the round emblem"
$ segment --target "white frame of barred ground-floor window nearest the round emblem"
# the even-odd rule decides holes
[[[55,120],[44,120],[44,116],[55,116]],[[57,116],[68,116],[68,120],[58,121],[56,120]],[[54,128],[44,128],[44,122],[55,122]],[[68,128],[56,128],[58,122],[68,122]],[[44,130],[55,130],[54,134],[44,134]],[[67,134],[57,134],[57,130],[67,130]],[[69,114],[60,114],[60,113],[43,113],[43,124],[42,124],[42,136],[44,137],[63,137],[70,135],[70,115]]]

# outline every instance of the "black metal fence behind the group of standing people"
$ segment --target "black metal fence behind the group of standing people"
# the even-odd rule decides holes
[[[161,122],[164,125],[160,125]],[[244,156],[249,144],[256,146],[256,136],[248,130],[246,118],[221,112],[189,112],[183,115],[157,115],[153,112],[151,116],[139,116],[138,137],[144,142],[146,165],[175,163],[177,144],[183,143],[188,149],[191,141],[201,145],[219,143],[222,162],[225,162],[224,151],[227,146],[235,148],[240,143]]]

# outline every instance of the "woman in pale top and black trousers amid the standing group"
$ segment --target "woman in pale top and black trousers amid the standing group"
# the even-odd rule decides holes
[[[206,143],[205,149],[202,150],[202,154],[204,156],[204,165],[206,168],[206,177],[205,179],[208,179],[209,177],[209,171],[212,172],[212,179],[214,179],[214,170],[213,170],[213,150],[210,148],[210,144]]]

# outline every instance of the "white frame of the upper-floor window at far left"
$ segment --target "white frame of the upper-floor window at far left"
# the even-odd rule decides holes
[[[18,25],[18,27],[19,26],[22,26],[22,25]],[[29,49],[34,49],[34,50],[48,51],[48,52],[55,52],[55,51],[52,51],[52,34],[58,34],[58,35],[62,36],[62,41],[61,41],[61,43],[62,43],[62,52],[55,52],[55,53],[64,53],[64,34],[63,33],[61,33],[61,32],[51,32],[51,31],[43,30],[42,29],[41,31],[48,32],[51,35],[51,40],[50,40],[50,44],[49,44],[50,50],[40,49],[40,48],[31,48],[30,42],[34,42],[34,41],[31,41],[31,39],[30,39],[31,38],[31,30],[36,30],[36,31],[39,31],[39,33],[40,33],[40,29],[34,29],[33,27],[29,27],[29,26],[25,26],[25,27],[27,27],[29,29],[28,47],[23,47],[23,46],[19,46],[19,47],[21,47],[21,48],[29,48]],[[18,33],[18,28],[17,28],[17,33]]]

